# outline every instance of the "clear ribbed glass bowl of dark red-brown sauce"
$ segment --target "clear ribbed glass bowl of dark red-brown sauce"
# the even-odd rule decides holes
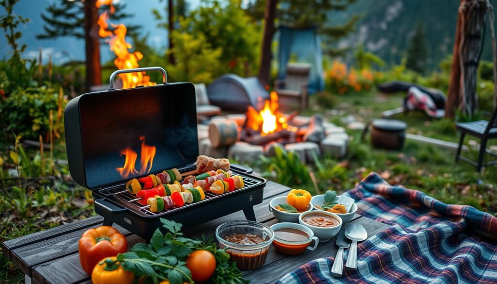
[[[266,261],[274,232],[258,222],[236,220],[219,225],[216,238],[219,246],[231,255],[240,270],[253,270]]]

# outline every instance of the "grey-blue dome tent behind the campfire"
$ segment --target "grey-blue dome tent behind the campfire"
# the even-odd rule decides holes
[[[238,111],[246,111],[248,105],[259,109],[260,102],[269,99],[269,92],[257,77],[242,78],[235,74],[216,79],[207,88],[207,94],[211,104]]]

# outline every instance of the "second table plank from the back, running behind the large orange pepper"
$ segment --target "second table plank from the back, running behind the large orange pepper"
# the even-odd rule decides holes
[[[81,228],[78,231],[70,232],[68,234],[62,234],[46,241],[14,249],[11,252],[11,261],[19,267],[24,274],[31,276],[31,269],[33,266],[78,252],[78,240],[81,238],[83,232],[89,228],[96,228],[100,225],[102,225],[102,223]],[[131,235],[131,232],[121,226],[114,225],[114,227],[125,236]]]

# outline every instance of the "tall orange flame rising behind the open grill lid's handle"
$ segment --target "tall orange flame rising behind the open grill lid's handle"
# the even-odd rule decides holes
[[[108,5],[110,13],[113,14],[115,11],[112,5],[112,0],[97,0],[95,3],[96,7],[99,8],[102,5]],[[102,38],[110,38],[107,40],[109,43],[110,50],[113,51],[117,58],[114,60],[114,65],[118,69],[131,69],[138,68],[140,65],[138,61],[143,58],[143,54],[139,51],[133,53],[129,52],[132,47],[131,44],[126,42],[126,26],[124,24],[110,24],[113,30],[109,29],[108,24],[108,13],[103,12],[98,17],[98,35]],[[135,88],[137,86],[154,86],[154,82],[150,82],[150,77],[145,75],[145,72],[134,72],[119,74],[119,78],[122,81],[122,88],[129,89]]]

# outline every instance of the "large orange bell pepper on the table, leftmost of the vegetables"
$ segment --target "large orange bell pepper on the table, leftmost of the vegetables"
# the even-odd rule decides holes
[[[100,226],[83,233],[79,248],[81,267],[91,275],[91,271],[101,259],[127,252],[128,241],[115,228]]]

